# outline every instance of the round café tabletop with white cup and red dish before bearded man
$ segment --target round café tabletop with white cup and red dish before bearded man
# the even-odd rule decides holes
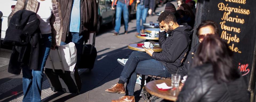
[[[152,45],[153,46],[153,45]],[[137,46],[137,43],[135,44],[129,44],[128,45],[128,48],[131,49],[131,50],[136,50],[136,51],[143,51],[145,52],[145,49],[142,47],[142,46]],[[156,47],[156,46],[153,46],[151,49],[154,50],[154,52],[161,52],[162,49],[160,47]]]

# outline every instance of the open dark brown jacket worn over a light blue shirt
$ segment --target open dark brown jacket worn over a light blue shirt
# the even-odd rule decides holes
[[[61,8],[61,16],[63,22],[63,34],[68,36],[71,9],[73,0],[59,0]],[[79,35],[83,35],[87,42],[90,33],[97,30],[98,4],[96,0],[80,0],[80,29]]]

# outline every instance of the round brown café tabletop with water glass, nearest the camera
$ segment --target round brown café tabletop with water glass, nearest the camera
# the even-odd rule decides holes
[[[156,86],[156,84],[166,83],[167,86],[171,86],[171,80],[170,79],[159,79],[159,80],[153,80],[146,84],[145,89],[149,94],[153,94],[157,97],[161,97],[166,100],[170,101],[176,101],[177,97],[179,95],[179,89],[176,88],[175,90],[159,90]]]

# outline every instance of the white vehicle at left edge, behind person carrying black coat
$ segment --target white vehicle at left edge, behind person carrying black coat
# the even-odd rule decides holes
[[[5,32],[7,29],[7,20],[8,16],[11,13],[11,10],[14,9],[17,0],[2,0],[0,3],[0,11],[3,13],[2,16],[2,30],[1,30],[1,40],[5,38]]]

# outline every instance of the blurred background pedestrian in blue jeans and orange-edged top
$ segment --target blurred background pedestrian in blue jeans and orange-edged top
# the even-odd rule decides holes
[[[128,33],[128,22],[129,22],[129,11],[128,7],[131,5],[132,2],[130,0],[113,0],[112,2],[112,9],[116,9],[115,12],[115,32],[113,33],[114,36],[119,35],[119,30],[121,27],[121,17],[123,12],[123,20],[125,21],[125,34]],[[116,7],[115,7],[116,6]]]

